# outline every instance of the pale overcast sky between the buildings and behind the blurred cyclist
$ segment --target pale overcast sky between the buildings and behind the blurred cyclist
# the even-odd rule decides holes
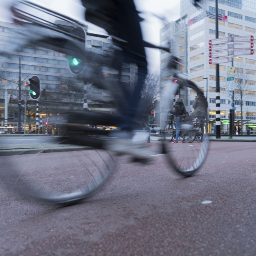
[[[0,0],[0,20],[11,22],[8,6],[14,0]],[[46,6],[49,9],[56,10],[72,18],[84,21],[84,8],[81,6],[80,0],[30,0]],[[164,21],[156,18],[160,16],[167,21],[174,21],[180,17],[180,0],[134,0],[136,8],[141,12],[140,16],[144,18],[141,22],[142,34],[144,40],[160,44],[159,30],[164,26]],[[104,30],[88,24],[88,30],[92,33],[104,34]],[[159,72],[159,51],[146,50],[148,58],[148,68],[151,72]]]

